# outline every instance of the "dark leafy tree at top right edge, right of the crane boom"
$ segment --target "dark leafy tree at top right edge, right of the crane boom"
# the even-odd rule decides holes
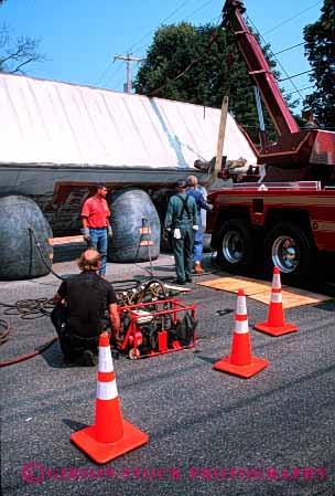
[[[315,91],[306,96],[304,109],[312,109],[325,127],[335,128],[335,3],[324,0],[320,19],[304,28],[305,54],[312,66]]]

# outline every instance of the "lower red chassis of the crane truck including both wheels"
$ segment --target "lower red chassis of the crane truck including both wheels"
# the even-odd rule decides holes
[[[335,188],[318,186],[247,183],[210,193],[207,232],[219,265],[244,273],[258,264],[269,276],[277,265],[284,282],[307,278],[321,253],[335,255]]]

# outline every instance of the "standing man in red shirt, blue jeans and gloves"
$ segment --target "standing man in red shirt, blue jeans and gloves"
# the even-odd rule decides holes
[[[88,198],[82,209],[82,234],[84,240],[87,241],[88,247],[97,250],[100,254],[100,275],[106,274],[108,238],[112,238],[112,230],[109,223],[110,210],[106,197],[106,184],[98,183],[95,196]]]

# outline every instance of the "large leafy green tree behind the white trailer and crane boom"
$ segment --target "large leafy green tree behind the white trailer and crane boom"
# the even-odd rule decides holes
[[[210,43],[214,33],[216,39]],[[268,62],[274,67],[269,49],[263,46]],[[226,65],[228,53],[235,56],[230,71]],[[186,67],[190,70],[184,72]],[[257,141],[259,125],[252,82],[228,31],[186,22],[159,28],[134,81],[137,93],[212,107],[221,106],[228,86],[230,112]],[[264,116],[267,130],[273,135],[274,127],[266,109]]]

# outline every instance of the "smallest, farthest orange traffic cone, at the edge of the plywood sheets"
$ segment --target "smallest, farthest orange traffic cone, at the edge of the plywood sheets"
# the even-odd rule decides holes
[[[271,336],[282,336],[283,334],[299,330],[299,327],[293,324],[285,323],[284,310],[282,307],[280,270],[278,267],[273,268],[268,321],[256,324],[253,329],[261,330],[262,333],[270,334]]]

